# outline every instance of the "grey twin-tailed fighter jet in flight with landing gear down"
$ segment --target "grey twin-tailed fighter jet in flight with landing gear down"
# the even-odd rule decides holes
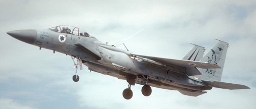
[[[188,96],[199,96],[212,87],[223,89],[249,89],[245,85],[220,82],[229,43],[217,40],[217,44],[203,57],[205,48],[195,45],[182,60],[138,55],[117,46],[131,38],[113,45],[105,44],[86,31],[72,26],[56,26],[44,30],[14,30],[7,32],[23,42],[61,52],[71,56],[75,75],[82,64],[90,71],[110,75],[128,82],[123,90],[125,99],[131,99],[131,86],[143,85],[141,92],[149,96],[151,87],[177,90]],[[124,45],[125,46],[125,45]],[[77,59],[75,61],[74,59]]]

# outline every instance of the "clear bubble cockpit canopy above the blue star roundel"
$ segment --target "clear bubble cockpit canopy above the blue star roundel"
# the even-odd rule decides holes
[[[86,31],[73,26],[60,25],[60,26],[49,28],[49,30],[59,32],[59,33],[67,33],[67,34],[74,34],[78,36],[90,37],[90,35]]]

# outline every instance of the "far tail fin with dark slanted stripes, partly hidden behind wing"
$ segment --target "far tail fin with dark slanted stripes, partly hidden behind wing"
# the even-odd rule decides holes
[[[196,44],[193,45],[195,46],[182,58],[182,60],[200,61],[203,58],[205,47]]]

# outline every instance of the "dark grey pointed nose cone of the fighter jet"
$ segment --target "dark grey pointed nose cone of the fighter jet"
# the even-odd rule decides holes
[[[29,44],[33,44],[37,38],[37,30],[14,30],[7,34]]]

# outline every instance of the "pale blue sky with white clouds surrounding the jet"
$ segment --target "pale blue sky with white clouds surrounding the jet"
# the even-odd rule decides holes
[[[1,108],[256,108],[256,1],[0,1]],[[71,25],[102,42],[125,42],[137,54],[182,59],[193,47],[229,42],[222,82],[251,89],[213,88],[198,97],[142,85],[133,98],[122,91],[125,80],[89,72],[84,66],[75,83],[70,56],[39,49],[6,32]],[[122,45],[119,46],[125,49]]]

